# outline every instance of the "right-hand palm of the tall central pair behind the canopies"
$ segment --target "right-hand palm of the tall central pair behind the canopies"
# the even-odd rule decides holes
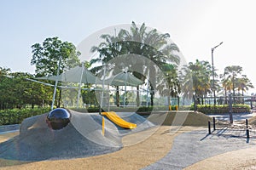
[[[167,38],[170,37],[169,34],[160,34],[156,29],[147,31],[145,24],[137,27],[135,22],[132,22],[130,31],[121,30],[120,32],[125,37],[125,47],[129,53],[143,55],[160,68],[162,68],[162,65],[166,65],[166,63],[179,65],[179,56],[173,53],[174,51],[179,52],[179,49],[175,43],[167,42]],[[148,65],[149,63],[146,63],[145,68],[141,68],[144,75],[150,77],[151,105],[153,105],[154,87],[152,82],[156,82],[157,72],[154,69],[149,69]],[[143,81],[145,80],[143,75],[137,75],[136,73],[134,75]]]

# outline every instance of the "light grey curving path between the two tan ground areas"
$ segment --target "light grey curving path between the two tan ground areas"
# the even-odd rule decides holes
[[[208,135],[207,129],[183,133],[174,139],[172,150],[164,158],[143,169],[183,169],[211,156],[252,147],[256,144],[255,141],[255,139],[247,141],[246,138]]]

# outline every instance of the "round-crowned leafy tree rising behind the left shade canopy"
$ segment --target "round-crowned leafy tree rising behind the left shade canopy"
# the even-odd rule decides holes
[[[31,65],[36,66],[36,76],[55,76],[58,65],[60,73],[80,64],[79,51],[71,42],[62,42],[58,37],[49,37],[42,44],[32,45]],[[57,106],[61,104],[61,89]]]

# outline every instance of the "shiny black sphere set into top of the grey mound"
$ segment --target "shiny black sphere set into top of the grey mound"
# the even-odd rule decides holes
[[[57,108],[53,111],[50,111],[46,122],[48,126],[54,130],[59,130],[63,127],[66,127],[70,122],[71,113],[66,109]]]

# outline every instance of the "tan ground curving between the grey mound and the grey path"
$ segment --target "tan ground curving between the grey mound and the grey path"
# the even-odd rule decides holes
[[[182,127],[177,133],[169,133],[170,126],[162,126],[143,142],[125,146],[122,150],[110,154],[71,160],[36,161],[18,166],[2,166],[0,169],[140,169],[166,156],[168,151],[172,149],[172,141],[178,133],[198,128]],[[123,139],[123,143],[129,144],[132,138],[138,138],[142,133],[151,133],[152,130],[154,129],[127,135]],[[3,140],[5,139],[2,138]],[[0,164],[3,163],[6,164],[5,160],[0,161]],[[14,164],[17,163],[19,162],[14,161]],[[6,165],[11,165],[11,161]]]

